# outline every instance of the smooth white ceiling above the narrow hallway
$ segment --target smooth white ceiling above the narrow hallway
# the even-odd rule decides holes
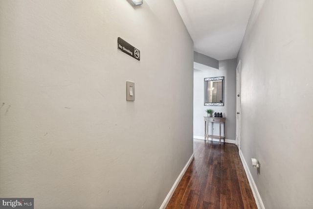
[[[194,50],[217,60],[237,57],[254,0],[174,0]]]

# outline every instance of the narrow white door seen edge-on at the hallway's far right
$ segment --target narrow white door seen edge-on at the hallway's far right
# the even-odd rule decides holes
[[[236,68],[236,144],[240,150],[241,60]]]

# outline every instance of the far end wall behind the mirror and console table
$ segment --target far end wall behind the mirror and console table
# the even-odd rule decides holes
[[[206,109],[223,113],[226,117],[226,139],[236,139],[236,59],[219,61],[219,68],[204,67],[194,70],[194,138],[203,138],[203,116]],[[224,76],[224,106],[204,106],[204,78]],[[219,125],[214,124],[214,135],[219,135]],[[222,133],[224,131],[222,125]],[[209,132],[212,133],[212,132]],[[223,135],[223,134],[222,134]]]

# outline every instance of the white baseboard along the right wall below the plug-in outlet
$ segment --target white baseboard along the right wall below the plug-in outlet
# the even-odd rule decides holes
[[[260,196],[260,193],[258,191],[258,188],[256,187],[256,185],[254,183],[254,180],[253,180],[252,175],[250,173],[249,167],[248,167],[248,165],[246,163],[246,160],[245,160],[244,155],[243,155],[241,150],[239,150],[239,156],[240,156],[241,162],[244,165],[244,169],[246,171],[246,176],[248,178],[249,185],[251,187],[252,194],[253,194],[253,197],[255,199],[256,206],[258,207],[258,209],[265,209],[263,201],[262,201],[261,196]]]

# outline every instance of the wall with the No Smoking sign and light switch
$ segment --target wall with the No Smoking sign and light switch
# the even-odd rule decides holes
[[[193,42],[174,2],[1,0],[0,37],[0,196],[158,208],[193,153]]]

